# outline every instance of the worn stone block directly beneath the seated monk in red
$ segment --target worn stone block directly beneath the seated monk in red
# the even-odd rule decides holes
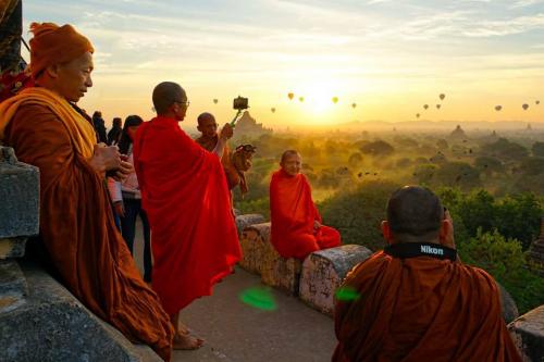
[[[242,233],[240,266],[259,274],[262,283],[298,295],[301,262],[282,258],[270,242],[270,223],[247,226]]]

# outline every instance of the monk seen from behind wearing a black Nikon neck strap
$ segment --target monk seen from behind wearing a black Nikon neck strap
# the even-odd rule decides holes
[[[335,362],[521,361],[484,271],[457,258],[453,221],[421,187],[393,194],[384,251],[336,292]]]

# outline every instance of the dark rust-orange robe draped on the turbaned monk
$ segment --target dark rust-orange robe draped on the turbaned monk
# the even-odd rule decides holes
[[[33,91],[25,89],[21,97],[28,97],[28,90]],[[70,107],[63,99],[55,101]],[[89,142],[88,135],[70,129],[53,109],[23,102],[7,127],[10,112],[0,114],[5,145],[15,149],[20,161],[40,170],[40,239],[62,282],[85,307],[132,341],[147,344],[170,360],[169,315],[141,279],[115,228],[103,178],[82,155],[81,139],[74,138]],[[86,127],[83,117],[77,122]]]

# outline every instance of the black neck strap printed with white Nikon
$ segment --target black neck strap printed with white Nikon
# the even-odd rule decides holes
[[[457,260],[457,250],[432,242],[400,242],[385,247],[383,251],[393,258],[408,259],[431,257],[440,260]]]

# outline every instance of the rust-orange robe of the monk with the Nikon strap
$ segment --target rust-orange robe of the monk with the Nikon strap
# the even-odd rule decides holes
[[[521,361],[484,271],[383,251],[357,265],[336,301],[333,361]],[[347,298],[346,298],[347,299]]]

